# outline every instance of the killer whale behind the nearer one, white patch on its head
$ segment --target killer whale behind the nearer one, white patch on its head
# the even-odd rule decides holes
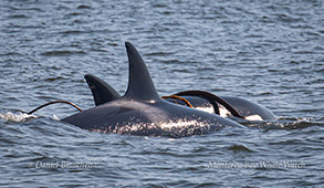
[[[121,97],[121,95],[105,81],[92,74],[87,74],[84,77],[93,93],[95,105],[101,105],[114,98]],[[205,111],[211,114],[219,114],[222,117],[239,116],[249,121],[276,119],[274,114],[268,108],[241,97],[219,96],[219,98],[224,102],[220,103],[216,102],[215,98],[205,97],[206,95],[213,95],[205,91],[185,91],[176,93],[175,95],[187,100],[196,109]],[[184,101],[179,98],[167,97],[165,100],[175,104],[186,105]],[[228,106],[226,104],[228,104]],[[234,108],[234,113],[238,113],[238,115],[236,115],[233,111],[229,109],[230,107]]]

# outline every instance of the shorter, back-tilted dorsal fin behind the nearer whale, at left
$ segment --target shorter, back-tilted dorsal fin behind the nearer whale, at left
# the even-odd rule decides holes
[[[96,106],[121,97],[121,95],[105,81],[92,74],[86,74],[84,79],[92,92]]]

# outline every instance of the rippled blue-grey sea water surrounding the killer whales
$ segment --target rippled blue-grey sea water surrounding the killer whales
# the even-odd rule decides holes
[[[80,129],[53,118],[66,105],[17,119],[93,106],[86,73],[123,94],[125,41],[160,95],[240,96],[279,121],[174,139]],[[0,186],[322,187],[323,46],[322,0],[1,0]]]

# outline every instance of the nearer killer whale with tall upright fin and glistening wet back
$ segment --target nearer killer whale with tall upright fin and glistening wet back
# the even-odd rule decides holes
[[[98,105],[65,117],[63,122],[93,132],[145,136],[189,136],[228,126],[244,127],[219,115],[161,100],[137,50],[129,42],[125,42],[125,46],[129,73],[124,96],[111,92],[105,83],[96,87],[94,81],[92,92],[98,96],[95,100]],[[102,92],[107,95],[101,95]]]

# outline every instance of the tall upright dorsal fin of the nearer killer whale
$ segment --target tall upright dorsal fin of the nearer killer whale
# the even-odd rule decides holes
[[[142,101],[160,101],[142,56],[132,43],[125,42],[125,45],[129,63],[129,79],[124,96]]]

